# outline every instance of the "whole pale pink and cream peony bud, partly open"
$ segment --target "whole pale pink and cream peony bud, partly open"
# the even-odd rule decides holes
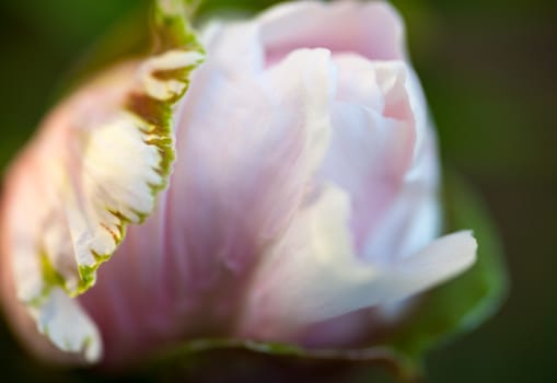
[[[474,263],[469,232],[438,239],[436,138],[394,9],[285,3],[202,43],[172,126],[199,53],[109,69],[8,174],[4,306],[44,358],[117,364],[200,337],[341,348]]]

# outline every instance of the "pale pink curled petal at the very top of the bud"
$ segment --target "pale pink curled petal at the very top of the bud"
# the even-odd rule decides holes
[[[271,8],[258,22],[269,63],[299,48],[351,51],[371,60],[405,56],[402,20],[382,1],[294,1]]]

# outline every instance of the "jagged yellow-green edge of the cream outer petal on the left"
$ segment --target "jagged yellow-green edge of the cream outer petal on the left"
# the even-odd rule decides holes
[[[153,169],[161,177],[161,182],[148,184],[151,195],[156,194],[167,186],[171,166],[175,159],[174,142],[172,137],[172,116],[174,104],[182,98],[189,86],[189,77],[195,68],[202,61],[205,51],[198,43],[194,30],[189,25],[186,16],[188,14],[188,0],[156,0],[154,2],[154,26],[153,38],[155,40],[154,53],[146,58],[146,63],[151,63],[150,71],[143,73],[152,80],[164,84],[165,82],[179,83],[179,89],[173,89],[164,96],[156,96],[149,93],[148,86],[143,90],[130,90],[125,97],[121,111],[128,113],[137,124],[141,135],[144,137],[146,144],[156,148],[160,154],[160,162]],[[182,57],[181,60],[169,63],[169,57]],[[184,59],[186,55],[193,55],[192,59]],[[171,57],[172,59],[172,57]],[[183,65],[183,62],[188,63]],[[161,68],[159,68],[161,66]],[[114,241],[116,248],[124,240],[126,227],[129,223],[141,223],[150,212],[137,211],[129,207],[132,216],[126,216],[123,211],[116,211],[106,207],[105,210],[116,219],[114,228],[105,228]],[[65,278],[56,270],[50,262],[48,254],[40,254],[40,265],[45,287],[40,297],[34,299],[30,304],[40,304],[55,287],[62,288],[68,295],[77,297],[85,292],[95,283],[96,270],[108,260],[111,254],[97,254],[90,249],[94,259],[93,264],[78,265],[79,281],[77,286],[69,287]],[[36,304],[34,304],[36,303]]]

